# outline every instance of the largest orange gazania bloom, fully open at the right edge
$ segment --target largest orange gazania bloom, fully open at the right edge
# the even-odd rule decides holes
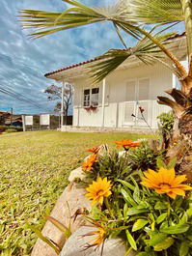
[[[185,196],[185,190],[191,190],[189,185],[182,185],[186,181],[185,175],[176,177],[175,169],[167,170],[161,167],[158,172],[149,169],[144,172],[146,177],[142,178],[142,185],[153,188],[158,194],[167,194],[172,198],[177,195]]]

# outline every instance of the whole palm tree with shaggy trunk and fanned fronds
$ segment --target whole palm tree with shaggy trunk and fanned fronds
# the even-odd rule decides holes
[[[158,97],[160,104],[170,106],[175,114],[176,134],[186,139],[192,136],[192,0],[119,0],[108,7],[89,8],[74,0],[63,0],[71,5],[64,13],[34,10],[20,12],[23,27],[34,28],[33,38],[58,31],[111,21],[124,49],[112,49],[99,56],[100,61],[91,67],[95,82],[116,70],[127,58],[134,55],[146,64],[161,62],[173,71],[180,82],[180,90],[166,91],[173,100]],[[188,56],[188,71],[167,46],[171,33],[167,30],[184,22]],[[149,26],[151,31],[149,32]],[[137,40],[133,48],[123,42],[121,31]],[[161,53],[161,54],[159,54]]]

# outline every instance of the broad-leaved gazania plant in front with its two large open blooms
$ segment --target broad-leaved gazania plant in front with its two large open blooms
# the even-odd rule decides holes
[[[143,172],[134,171],[116,184],[99,178],[87,187],[86,196],[97,201],[88,220],[102,229],[93,233],[100,236],[95,245],[119,236],[128,247],[125,255],[131,251],[138,256],[191,255],[192,196],[180,196],[191,188],[181,185],[183,176],[175,176],[174,165],[170,162],[169,168],[163,164],[158,172],[146,173],[150,182]]]

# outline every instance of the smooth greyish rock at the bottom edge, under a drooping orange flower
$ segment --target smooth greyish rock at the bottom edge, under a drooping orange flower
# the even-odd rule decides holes
[[[98,249],[96,249],[96,247],[84,249],[86,243],[93,240],[95,236],[82,236],[92,231],[96,231],[96,227],[80,227],[70,236],[60,256],[100,256],[101,246],[99,246]],[[124,256],[126,250],[122,239],[109,239],[104,242],[103,256]],[[133,256],[134,254],[130,253],[128,255]]]

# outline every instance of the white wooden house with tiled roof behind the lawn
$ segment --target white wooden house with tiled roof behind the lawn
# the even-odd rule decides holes
[[[172,43],[169,47],[172,52],[185,64],[184,34],[176,35],[170,40]],[[151,128],[157,128],[156,117],[171,110],[167,106],[159,105],[157,96],[165,95],[165,90],[177,86],[176,76],[159,63],[146,66],[135,57],[130,57],[101,83],[92,85],[87,68],[98,61],[95,58],[45,74],[49,79],[62,81],[64,84],[72,83],[74,86],[72,130],[148,128],[141,119],[139,106],[145,109],[144,116]]]

